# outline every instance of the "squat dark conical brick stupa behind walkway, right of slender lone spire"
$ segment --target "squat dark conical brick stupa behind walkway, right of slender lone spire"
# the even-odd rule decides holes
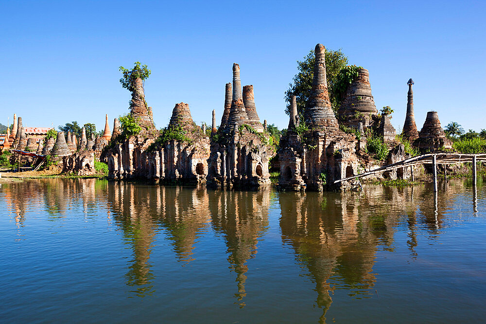
[[[452,142],[440,126],[436,111],[429,111],[424,125],[414,142],[421,153],[437,152],[443,149],[452,149]]]

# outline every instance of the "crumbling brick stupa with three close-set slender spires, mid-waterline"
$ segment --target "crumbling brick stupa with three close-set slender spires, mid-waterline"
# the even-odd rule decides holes
[[[211,137],[208,184],[213,187],[258,187],[270,183],[268,161],[275,155],[255,107],[253,86],[241,87],[240,66],[233,64],[233,89],[226,84],[225,110]],[[229,115],[228,102],[231,100]],[[246,106],[246,105],[247,106]]]

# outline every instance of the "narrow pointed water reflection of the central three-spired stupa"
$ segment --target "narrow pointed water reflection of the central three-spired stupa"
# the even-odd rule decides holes
[[[255,257],[259,238],[268,227],[270,190],[209,191],[212,226],[226,240],[230,269],[236,273],[240,308],[245,306],[246,262]]]

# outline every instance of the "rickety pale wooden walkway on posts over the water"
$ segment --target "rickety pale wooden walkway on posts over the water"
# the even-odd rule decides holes
[[[361,178],[367,175],[375,174],[376,172],[384,172],[384,171],[390,171],[394,169],[407,168],[407,167],[410,167],[410,170],[412,171],[412,181],[414,181],[415,180],[414,171],[413,171],[414,166],[419,164],[432,164],[433,173],[434,173],[434,191],[437,191],[437,164],[456,164],[456,163],[471,162],[473,164],[472,175],[474,178],[474,186],[476,186],[476,181],[477,181],[476,165],[477,162],[481,162],[481,161],[486,161],[486,153],[482,153],[482,154],[427,153],[427,154],[413,156],[403,161],[389,164],[387,166],[380,167],[375,170],[371,170],[358,175],[353,175],[351,177],[339,179],[334,181],[334,183],[339,183],[339,182],[343,182],[355,178]]]

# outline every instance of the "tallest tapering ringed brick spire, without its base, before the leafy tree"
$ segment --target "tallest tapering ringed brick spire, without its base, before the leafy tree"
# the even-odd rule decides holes
[[[311,98],[304,117],[312,128],[337,131],[339,125],[332,111],[326,79],[326,49],[324,45],[315,46],[314,76],[312,79]]]

